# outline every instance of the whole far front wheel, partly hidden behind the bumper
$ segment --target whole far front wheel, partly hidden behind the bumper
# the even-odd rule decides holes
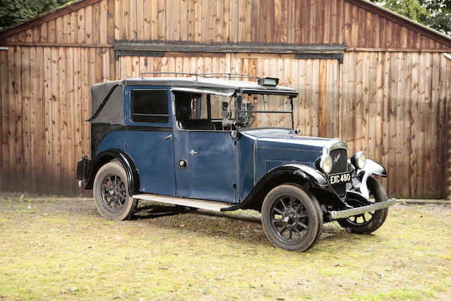
[[[385,202],[388,197],[385,189],[373,177],[368,178],[368,190],[370,196],[377,202]],[[382,226],[388,214],[388,208],[366,212],[356,216],[350,216],[347,219],[340,219],[338,223],[350,233],[369,234]]]

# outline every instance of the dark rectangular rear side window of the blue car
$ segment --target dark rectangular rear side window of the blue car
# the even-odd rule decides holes
[[[132,90],[132,121],[168,123],[166,90]]]

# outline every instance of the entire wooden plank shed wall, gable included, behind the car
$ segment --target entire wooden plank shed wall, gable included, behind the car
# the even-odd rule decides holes
[[[364,149],[388,168],[390,195],[444,197],[451,61],[440,52],[449,45],[355,2],[89,0],[11,35],[1,42],[10,50],[0,51],[0,191],[80,195],[75,162],[90,155],[89,86],[178,70],[276,76],[299,89],[295,113],[304,135],[340,137],[350,152]],[[114,42],[155,40],[351,48],[342,64],[233,52],[115,58]]]

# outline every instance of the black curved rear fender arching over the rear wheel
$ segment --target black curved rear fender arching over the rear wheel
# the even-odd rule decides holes
[[[91,172],[89,173],[85,189],[92,189],[97,171],[99,171],[101,166],[104,166],[113,159],[118,159],[125,168],[128,181],[128,195],[131,197],[137,192],[140,192],[140,174],[135,166],[135,162],[133,162],[132,158],[122,149],[107,149],[100,152],[92,159]]]

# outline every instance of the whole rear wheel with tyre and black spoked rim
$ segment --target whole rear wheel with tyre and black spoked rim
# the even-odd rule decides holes
[[[137,199],[128,195],[128,182],[120,162],[102,166],[94,179],[94,199],[101,216],[106,219],[129,219],[137,207]]]

